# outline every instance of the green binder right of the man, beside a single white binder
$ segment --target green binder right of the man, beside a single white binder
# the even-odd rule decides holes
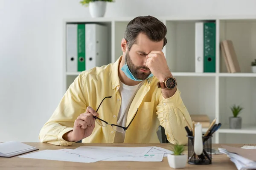
[[[216,26],[213,22],[204,23],[204,72],[215,73]]]

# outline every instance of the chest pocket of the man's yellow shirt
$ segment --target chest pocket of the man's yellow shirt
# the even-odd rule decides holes
[[[143,102],[140,106],[140,128],[149,130],[156,117],[156,106],[154,101]]]

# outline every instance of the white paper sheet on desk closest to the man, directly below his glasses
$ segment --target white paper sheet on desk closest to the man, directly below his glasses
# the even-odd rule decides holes
[[[108,155],[111,157],[122,155],[145,155],[151,147],[93,147],[93,146],[81,146],[77,147],[79,153],[83,154],[99,154]]]

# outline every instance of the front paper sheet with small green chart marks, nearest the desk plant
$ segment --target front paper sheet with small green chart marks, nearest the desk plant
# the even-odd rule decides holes
[[[124,155],[116,156],[110,159],[105,159],[103,161],[150,161],[150,162],[160,162],[163,161],[163,153],[161,154],[150,154],[150,155]]]

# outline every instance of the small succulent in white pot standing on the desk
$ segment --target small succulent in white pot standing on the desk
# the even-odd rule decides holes
[[[184,145],[174,145],[173,154],[167,155],[168,163],[171,168],[176,169],[186,167],[187,156],[183,154],[184,150]]]

